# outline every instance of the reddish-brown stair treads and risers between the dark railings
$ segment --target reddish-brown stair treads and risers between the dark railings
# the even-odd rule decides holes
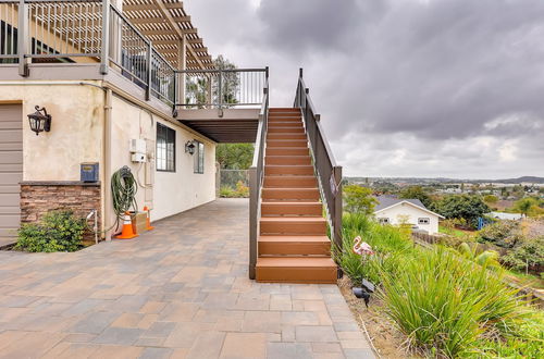
[[[336,283],[299,109],[269,110],[259,221],[258,282]]]

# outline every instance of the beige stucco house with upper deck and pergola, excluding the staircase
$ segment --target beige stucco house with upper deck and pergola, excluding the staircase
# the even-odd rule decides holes
[[[259,109],[217,110],[219,76],[182,2],[2,1],[0,20],[5,240],[21,222],[54,208],[82,215],[97,210],[107,230],[115,219],[110,178],[125,165],[138,182],[138,210],[150,208],[152,220],[209,202],[215,198],[215,146],[233,138],[206,125],[219,115],[227,124],[242,119],[250,125],[236,141],[255,140]],[[262,79],[264,69],[251,74]],[[208,78],[209,87],[197,94],[195,78]],[[255,90],[261,97],[262,86]],[[202,111],[182,106],[202,95]],[[51,115],[49,132],[32,131],[27,115],[35,107]],[[83,163],[98,165],[98,181],[82,181]]]

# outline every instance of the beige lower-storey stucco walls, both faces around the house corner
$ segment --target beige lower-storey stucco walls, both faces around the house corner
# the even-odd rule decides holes
[[[100,85],[99,82],[95,83]],[[104,174],[102,140],[104,133],[104,92],[102,89],[77,84],[62,85],[1,85],[0,102],[21,102],[23,107],[23,181],[79,181],[82,162],[98,162]],[[52,115],[51,132],[36,136],[28,126],[26,114],[34,107],[46,107]],[[141,186],[138,187],[138,209],[152,208],[152,220],[176,214],[215,199],[215,144],[177,123],[150,113],[127,100],[113,96],[111,109],[110,173],[128,165]],[[146,168],[133,163],[129,140],[150,140],[154,153],[157,122],[176,131],[176,172],[156,172],[152,186],[146,185]],[[205,173],[194,173],[194,157],[185,153],[189,139],[205,144]],[[106,188],[106,186],[102,186]],[[112,205],[104,203],[112,213]],[[107,225],[114,220],[113,214]]]

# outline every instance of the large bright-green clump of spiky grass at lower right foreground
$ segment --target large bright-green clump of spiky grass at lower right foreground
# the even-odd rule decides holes
[[[440,356],[474,354],[482,334],[514,333],[527,313],[500,275],[442,247],[382,271],[382,283],[387,314],[412,345]]]

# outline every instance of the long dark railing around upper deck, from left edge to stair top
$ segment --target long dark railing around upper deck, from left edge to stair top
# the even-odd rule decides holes
[[[258,107],[268,78],[268,69],[178,71],[109,0],[0,0],[0,64],[18,63],[27,76],[28,59],[74,58],[120,72],[173,108]]]

